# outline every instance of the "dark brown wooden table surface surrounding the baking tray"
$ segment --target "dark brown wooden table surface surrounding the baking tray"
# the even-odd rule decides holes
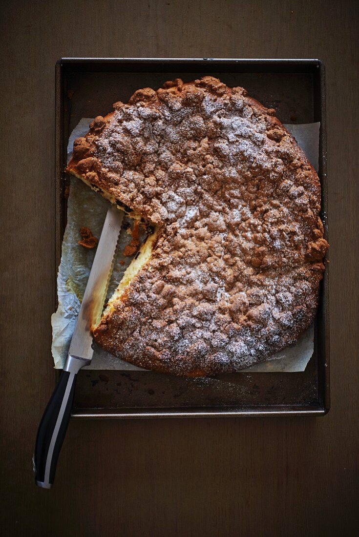
[[[1,11],[2,535],[356,534],[358,3],[3,0]],[[61,56],[325,62],[327,416],[75,420],[55,487],[35,487],[31,456],[51,391],[54,64]]]

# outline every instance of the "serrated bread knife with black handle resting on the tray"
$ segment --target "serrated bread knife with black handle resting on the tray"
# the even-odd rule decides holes
[[[74,401],[77,373],[91,363],[94,354],[91,328],[100,321],[123,216],[116,205],[111,205],[107,211],[63,371],[41,418],[33,470],[35,483],[44,489],[51,489],[54,483],[56,464]]]

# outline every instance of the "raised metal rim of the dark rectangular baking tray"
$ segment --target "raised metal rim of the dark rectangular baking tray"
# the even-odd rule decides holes
[[[327,207],[327,146],[326,146],[326,102],[325,102],[325,66],[319,59],[226,59],[226,58],[131,58],[131,57],[105,57],[105,58],[92,58],[92,57],[63,57],[59,59],[55,64],[55,174],[56,174],[56,186],[55,186],[55,273],[57,274],[59,258],[61,257],[61,221],[63,219],[63,212],[61,207],[61,197],[63,194],[62,177],[63,172],[61,170],[62,158],[64,154],[63,140],[62,140],[62,120],[63,120],[63,103],[62,103],[62,68],[64,65],[71,65],[75,63],[95,64],[101,65],[103,63],[126,63],[132,62],[133,64],[159,64],[159,63],[186,63],[198,66],[203,64],[216,63],[217,65],[231,64],[253,64],[256,67],[262,66],[311,66],[320,71],[320,176],[322,179],[322,211],[326,213],[325,231],[326,238],[328,238],[328,207]],[[283,415],[311,415],[322,416],[326,415],[330,408],[330,394],[329,394],[329,294],[328,294],[328,266],[324,279],[322,281],[321,293],[325,294],[326,302],[323,305],[322,319],[324,323],[325,342],[324,342],[324,355],[325,355],[325,368],[324,368],[324,392],[323,401],[321,407],[289,407],[289,408],[277,408],[269,407],[264,410],[263,407],[241,407],[240,409],[187,409],[187,410],[166,410],[166,409],[147,409],[146,411],[137,411],[135,409],[126,409],[123,412],[111,411],[108,409],[105,411],[94,411],[94,409],[88,409],[83,411],[76,411],[71,414],[72,417],[83,419],[140,419],[140,418],[189,418],[189,417],[240,417],[240,416],[283,416]],[[55,300],[56,300],[56,287],[54,286]],[[318,364],[319,367],[319,364]],[[54,370],[53,381],[56,381],[56,371]],[[101,409],[103,410],[103,409]],[[114,409],[112,409],[114,410]]]

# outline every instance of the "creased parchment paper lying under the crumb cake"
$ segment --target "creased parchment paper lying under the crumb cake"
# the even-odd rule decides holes
[[[70,135],[67,146],[67,161],[71,158],[73,143],[76,138],[83,136],[89,130],[92,118],[82,118]],[[285,125],[295,136],[299,146],[304,150],[308,159],[318,171],[319,158],[319,123],[306,125]],[[105,220],[109,202],[99,194],[92,191],[80,179],[71,177],[70,191],[67,205],[67,226],[63,236],[62,255],[58,273],[58,299],[59,306],[51,317],[52,323],[52,355],[55,368],[63,367],[71,337],[73,335],[76,318],[80,311],[81,300],[92,261],[95,256],[94,250],[86,250],[78,245],[80,240],[80,228],[88,227],[92,234],[99,238]],[[124,222],[126,219],[124,219]],[[114,263],[114,270],[110,280],[110,297],[122,278],[129,258],[123,257],[122,253],[131,237],[126,231],[121,231],[120,243]],[[313,354],[314,329],[311,326],[298,339],[295,347],[289,347],[272,355],[263,364],[257,364],[242,372],[298,372],[304,371]],[[88,369],[139,369],[136,366],[119,360],[112,354],[95,345],[94,357]]]

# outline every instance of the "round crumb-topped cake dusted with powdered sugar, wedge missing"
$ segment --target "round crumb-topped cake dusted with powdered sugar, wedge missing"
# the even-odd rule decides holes
[[[243,88],[205,76],[138,90],[75,140],[67,171],[156,229],[96,343],[139,367],[239,371],[312,323],[328,248],[320,183]]]

